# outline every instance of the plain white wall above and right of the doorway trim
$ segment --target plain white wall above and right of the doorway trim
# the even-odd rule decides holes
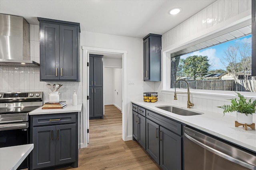
[[[134,80],[134,85],[127,85],[127,139],[132,139],[132,105],[131,100],[141,99],[143,96],[143,41],[139,38],[92,33],[80,33],[80,46],[98,47],[127,51],[127,79]],[[81,49],[82,51],[82,49]],[[82,56],[82,52],[80,54]],[[82,61],[81,61],[82,62]],[[127,81],[128,82],[128,81]]]

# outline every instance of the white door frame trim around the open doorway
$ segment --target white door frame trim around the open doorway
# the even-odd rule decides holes
[[[107,65],[106,68],[115,68],[115,69],[121,69],[121,80],[119,80],[119,82],[121,81],[121,89],[120,88],[116,88],[114,90],[116,90],[114,92],[114,94],[117,94],[120,96],[120,92],[122,92],[122,102],[121,102],[121,109],[122,109],[122,139],[123,141],[127,141],[127,99],[126,99],[126,94],[127,94],[127,86],[126,86],[126,56],[127,56],[127,51],[122,51],[122,50],[116,50],[116,49],[103,49],[103,48],[96,48],[96,47],[82,47],[83,49],[83,131],[84,132],[88,132],[87,135],[84,134],[83,135],[83,145],[81,145],[81,147],[87,147],[87,144],[89,143],[89,100],[87,100],[87,96],[89,94],[89,81],[88,81],[88,77],[89,77],[89,68],[86,67],[87,62],[89,61],[89,55],[90,54],[100,54],[100,55],[104,55],[106,59],[108,59],[108,57],[106,56],[115,56],[115,57],[119,57],[119,59],[122,59],[122,67],[120,68],[120,66],[115,66],[115,65],[108,65],[106,64],[107,62],[105,62],[105,64]],[[122,58],[120,58],[122,57]],[[113,62],[110,62],[113,64]],[[104,73],[103,73],[104,74]],[[106,89],[105,89],[106,90]],[[104,101],[105,102],[105,101]],[[120,104],[118,104],[120,105]],[[103,112],[104,113],[104,112]]]

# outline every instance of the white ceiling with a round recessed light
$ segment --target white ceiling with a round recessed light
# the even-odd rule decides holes
[[[0,0],[0,13],[80,23],[81,31],[143,38],[164,34],[215,0]],[[182,12],[171,16],[174,8]]]

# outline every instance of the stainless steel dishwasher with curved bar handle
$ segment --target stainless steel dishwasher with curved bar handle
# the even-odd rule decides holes
[[[256,170],[256,154],[184,127],[184,170]]]

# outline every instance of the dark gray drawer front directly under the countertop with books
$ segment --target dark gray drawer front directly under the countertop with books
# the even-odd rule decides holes
[[[76,113],[35,115],[32,117],[32,119],[33,119],[33,126],[76,123]]]

